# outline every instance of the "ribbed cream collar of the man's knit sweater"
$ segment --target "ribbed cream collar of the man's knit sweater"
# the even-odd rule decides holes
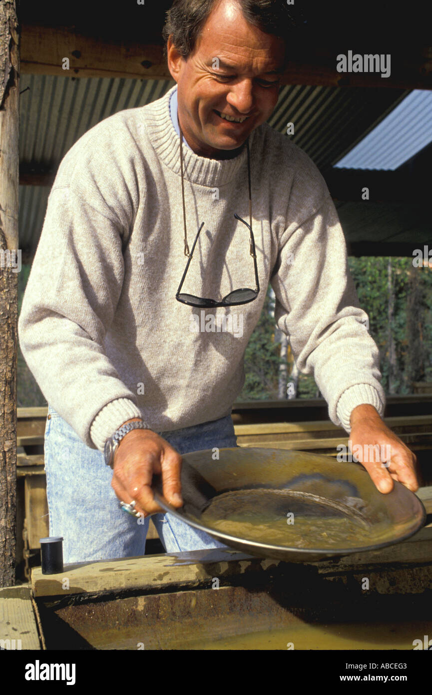
[[[174,90],[176,90],[176,85],[161,99],[144,106],[143,115],[151,145],[153,145],[158,158],[180,176],[180,138],[174,130],[169,113],[169,99]],[[252,131],[251,136],[249,136],[251,151],[255,133],[256,131]],[[240,173],[242,167],[246,166],[246,147],[243,147],[240,154],[232,159],[224,160],[201,157],[189,147],[183,147],[183,163],[185,179],[190,183],[199,183],[202,186],[210,187],[215,184],[223,186],[224,183],[232,181]]]

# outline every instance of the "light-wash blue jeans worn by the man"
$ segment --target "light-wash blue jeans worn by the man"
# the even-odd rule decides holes
[[[64,562],[144,555],[149,517],[138,520],[119,508],[110,485],[113,471],[103,453],[88,447],[50,406],[48,413],[44,458],[49,534],[63,536]],[[158,434],[179,454],[237,446],[231,416]],[[151,519],[167,553],[227,547],[172,514],[153,514]]]

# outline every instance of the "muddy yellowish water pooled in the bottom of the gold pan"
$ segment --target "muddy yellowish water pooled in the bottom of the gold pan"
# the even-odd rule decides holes
[[[342,502],[280,490],[223,493],[201,514],[208,528],[294,548],[358,548],[379,542],[379,525]]]

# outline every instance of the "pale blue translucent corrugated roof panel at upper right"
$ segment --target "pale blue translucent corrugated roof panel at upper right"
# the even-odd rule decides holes
[[[432,92],[413,90],[335,167],[395,170],[432,142]]]

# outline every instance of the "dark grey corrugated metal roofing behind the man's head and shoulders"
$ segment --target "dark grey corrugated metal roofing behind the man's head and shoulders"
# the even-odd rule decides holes
[[[20,80],[20,167],[56,172],[83,133],[125,108],[162,97],[174,81],[24,74]],[[25,91],[24,91],[25,90]],[[269,124],[325,171],[392,111],[408,92],[392,89],[285,86]],[[19,187],[19,246],[33,255],[47,208],[47,186]]]

